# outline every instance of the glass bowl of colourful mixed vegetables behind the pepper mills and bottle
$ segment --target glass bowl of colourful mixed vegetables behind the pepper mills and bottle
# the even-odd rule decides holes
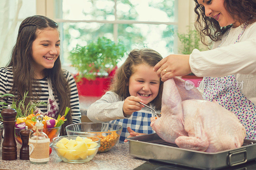
[[[69,109],[70,109],[69,107],[66,107],[65,114],[63,116],[59,115],[57,119],[54,119],[47,115],[43,115],[44,128],[42,130],[49,137],[50,146],[52,145],[52,139],[54,137],[60,136],[60,128],[61,128],[61,125],[67,120],[65,119],[65,116],[68,114]],[[14,132],[15,132],[14,137],[20,146],[22,145],[22,140],[20,138],[20,130],[25,129],[25,127],[27,126],[28,129],[31,129],[31,132],[32,132],[33,131],[32,128],[36,123],[37,115],[40,115],[40,114],[31,113],[26,117],[19,117],[16,119],[16,124],[14,128]]]

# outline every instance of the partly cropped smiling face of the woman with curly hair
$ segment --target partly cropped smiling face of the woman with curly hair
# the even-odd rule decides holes
[[[240,25],[239,22],[234,21],[224,6],[224,0],[197,0],[197,2],[204,6],[205,15],[212,17],[219,22],[221,27],[233,24],[234,27]]]

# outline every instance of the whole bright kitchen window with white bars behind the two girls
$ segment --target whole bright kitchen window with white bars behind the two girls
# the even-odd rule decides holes
[[[76,44],[99,36],[124,42],[127,52],[152,48],[163,57],[177,53],[178,0],[55,0],[62,64]],[[72,68],[70,68],[72,69]]]

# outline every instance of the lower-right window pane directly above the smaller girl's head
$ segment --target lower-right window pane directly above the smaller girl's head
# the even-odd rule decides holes
[[[118,39],[127,51],[134,48],[152,48],[163,57],[174,51],[174,36],[177,26],[153,24],[119,24]]]

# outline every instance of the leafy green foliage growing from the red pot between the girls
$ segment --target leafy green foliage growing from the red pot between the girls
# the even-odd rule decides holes
[[[108,76],[125,52],[121,42],[116,44],[106,37],[99,37],[96,42],[91,41],[86,46],[77,44],[70,52],[69,59],[72,66],[78,70],[78,81],[80,78],[90,80]]]

